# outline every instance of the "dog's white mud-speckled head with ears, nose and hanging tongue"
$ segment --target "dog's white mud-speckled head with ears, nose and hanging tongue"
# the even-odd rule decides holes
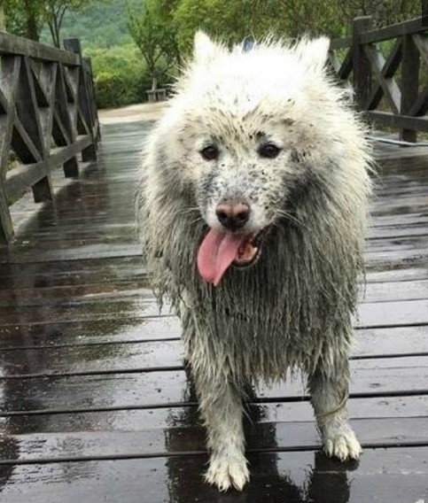
[[[179,177],[191,185],[211,229],[198,254],[199,271],[209,269],[207,281],[219,282],[232,262],[253,264],[268,229],[326,165],[328,47],[319,39],[292,49],[262,45],[230,52],[197,35],[195,62],[179,84],[168,141]],[[319,99],[327,103],[323,115]],[[220,263],[215,271],[204,266],[213,261]]]

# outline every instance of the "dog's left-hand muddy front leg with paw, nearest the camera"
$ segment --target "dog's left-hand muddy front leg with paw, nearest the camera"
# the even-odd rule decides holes
[[[232,485],[240,491],[249,480],[241,394],[224,369],[199,368],[194,380],[211,453],[206,481],[221,491]]]

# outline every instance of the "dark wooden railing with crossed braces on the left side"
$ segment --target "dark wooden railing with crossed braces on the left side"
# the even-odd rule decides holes
[[[0,244],[13,236],[10,206],[28,190],[53,197],[51,170],[79,174],[97,159],[99,127],[89,60],[70,39],[59,50],[0,32]]]

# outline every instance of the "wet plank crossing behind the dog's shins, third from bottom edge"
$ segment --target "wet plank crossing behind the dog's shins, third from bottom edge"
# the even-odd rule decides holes
[[[354,360],[351,362],[353,397],[424,395],[428,357]],[[194,402],[183,370],[108,373],[2,379],[0,409],[4,415],[24,411],[83,411],[105,408],[176,406]],[[261,401],[300,400],[304,380],[257,391]]]

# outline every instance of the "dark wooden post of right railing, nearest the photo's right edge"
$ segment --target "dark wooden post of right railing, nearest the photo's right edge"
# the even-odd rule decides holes
[[[419,66],[420,55],[411,35],[403,36],[402,62],[401,62],[401,115],[409,115],[416,103],[419,93]],[[416,142],[415,129],[401,129],[400,139],[406,142]]]

